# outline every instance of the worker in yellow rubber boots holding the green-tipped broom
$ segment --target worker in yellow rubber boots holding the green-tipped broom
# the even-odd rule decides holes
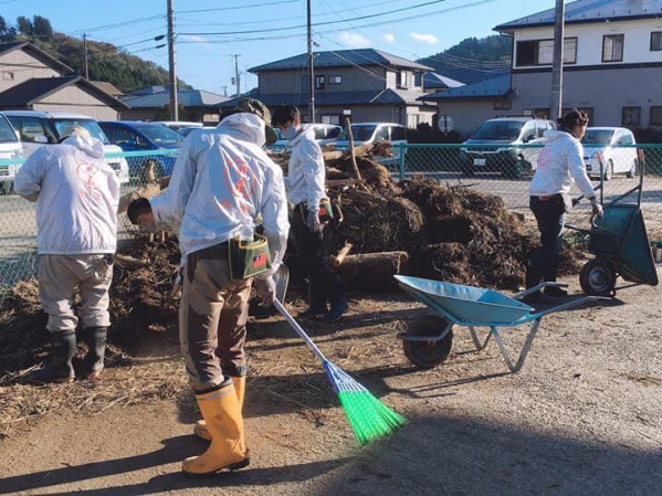
[[[276,139],[270,120],[262,102],[244,98],[216,129],[186,138],[165,194],[136,200],[127,210],[144,230],[175,228],[186,260],[179,340],[203,418],[193,432],[211,441],[201,456],[183,461],[189,475],[250,463],[242,405],[251,284],[255,278],[258,294],[273,303],[273,274],[290,231],[283,171],[262,148]],[[260,218],[267,240],[258,243],[263,252],[238,255],[238,246],[253,244]]]

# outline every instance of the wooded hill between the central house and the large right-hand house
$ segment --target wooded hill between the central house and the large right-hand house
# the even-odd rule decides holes
[[[454,46],[419,59],[417,62],[434,67],[434,72],[451,80],[470,84],[507,74],[511,70],[513,40],[498,34],[467,38]]]

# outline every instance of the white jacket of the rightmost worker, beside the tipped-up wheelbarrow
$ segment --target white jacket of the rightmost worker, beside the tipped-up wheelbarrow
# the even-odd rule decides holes
[[[584,147],[579,139],[561,130],[545,133],[547,145],[538,156],[538,166],[529,186],[532,197],[560,193],[568,198],[575,182],[586,198],[595,197],[586,173]],[[569,205],[568,205],[569,208]]]

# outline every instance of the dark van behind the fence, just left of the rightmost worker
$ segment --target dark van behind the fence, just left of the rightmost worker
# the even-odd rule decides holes
[[[485,120],[463,145],[491,146],[462,148],[462,172],[465,176],[501,172],[507,178],[521,178],[525,172],[535,170],[542,146],[518,148],[517,145],[544,145],[544,134],[549,129],[556,129],[554,122],[533,117]]]

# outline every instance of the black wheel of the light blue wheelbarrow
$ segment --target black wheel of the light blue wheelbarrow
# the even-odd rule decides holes
[[[448,321],[435,315],[427,315],[409,325],[408,336],[430,336],[437,337],[448,327]],[[413,365],[422,369],[432,369],[443,362],[453,348],[453,329],[439,341],[402,341],[404,356]]]

